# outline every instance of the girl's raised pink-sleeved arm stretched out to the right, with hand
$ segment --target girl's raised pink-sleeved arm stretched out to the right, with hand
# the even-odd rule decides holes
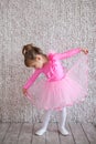
[[[85,53],[88,50],[87,49],[76,48],[76,49],[68,50],[68,51],[66,51],[64,53],[55,53],[54,58],[58,59],[58,60],[63,60],[63,59],[66,59],[66,58],[71,58],[71,56],[79,53],[81,51]],[[85,54],[87,54],[87,53],[85,53]]]

